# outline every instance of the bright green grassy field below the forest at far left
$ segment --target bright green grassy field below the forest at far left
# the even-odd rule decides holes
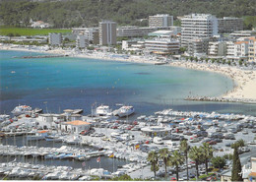
[[[0,35],[20,36],[20,35],[47,35],[49,32],[68,33],[71,30],[61,29],[31,29],[31,28],[15,28],[15,27],[0,27]]]

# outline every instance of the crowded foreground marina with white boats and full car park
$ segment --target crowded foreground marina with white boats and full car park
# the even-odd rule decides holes
[[[73,112],[73,109],[64,111]],[[153,173],[149,170],[148,152],[163,148],[174,152],[179,149],[180,141],[183,139],[186,139],[191,146],[207,142],[213,145],[215,154],[218,155],[232,152],[227,144],[233,139],[245,140],[248,147],[244,150],[252,152],[256,150],[251,135],[256,132],[256,117],[251,115],[164,109],[153,115],[138,116],[135,120],[127,120],[127,118],[109,120],[105,115],[83,116],[83,120],[92,123],[91,132],[83,134],[59,130],[60,125],[64,125],[71,118],[69,115],[66,116],[67,121],[60,123],[52,121],[54,124],[48,125],[50,129],[41,130],[40,125],[33,126],[40,115],[43,116],[38,114],[34,118],[28,118],[26,114],[20,115],[17,121],[3,127],[4,135],[0,146],[2,165],[9,166],[13,162],[24,162],[25,165],[26,162],[32,163],[29,168],[2,169],[3,172],[0,173],[4,176],[15,179],[22,173],[24,178],[29,179],[37,176],[32,173],[34,172],[32,165],[42,165],[47,170],[41,172],[44,175],[37,176],[39,179],[63,180],[66,179],[63,177],[65,174],[57,168],[62,169],[71,162],[73,169],[70,170],[70,175],[74,176],[73,180],[80,178],[91,180],[94,176],[92,174],[96,174],[101,179],[121,174],[151,178]],[[23,125],[25,123],[27,125]],[[18,131],[20,127],[16,126],[24,126],[22,135],[21,131]],[[5,132],[9,130],[10,132]],[[240,134],[245,134],[247,137]],[[48,168],[54,164],[58,166],[54,171],[49,172]],[[86,166],[85,171],[82,171],[83,166]],[[28,170],[33,175],[29,175]]]

